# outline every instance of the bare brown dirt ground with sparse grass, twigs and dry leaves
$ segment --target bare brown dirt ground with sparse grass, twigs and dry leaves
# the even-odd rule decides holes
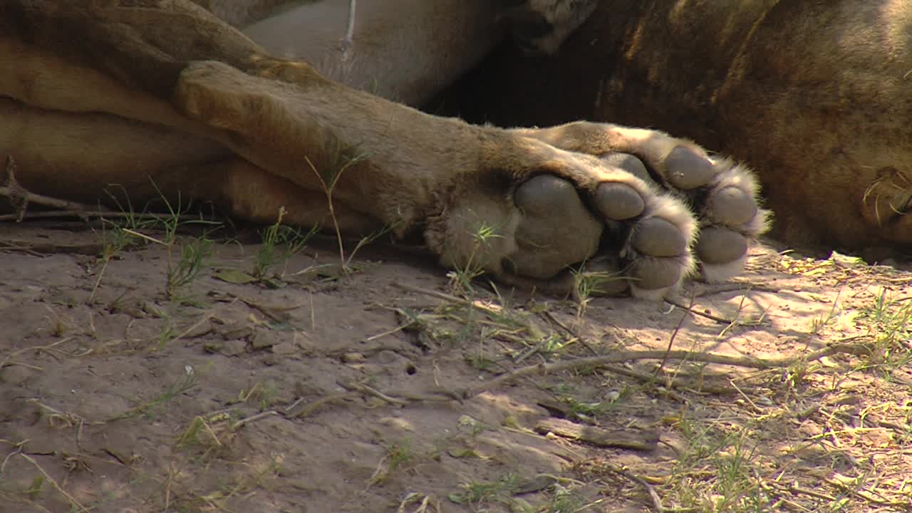
[[[675,306],[254,235],[0,224],[0,511],[912,510],[905,270]]]

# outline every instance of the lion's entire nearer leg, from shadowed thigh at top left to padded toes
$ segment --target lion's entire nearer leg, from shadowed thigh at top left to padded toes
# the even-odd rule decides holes
[[[252,164],[254,179],[251,170],[262,169],[297,187],[290,190],[331,195],[394,234],[423,230],[444,264],[546,285],[570,266],[620,257],[634,293],[652,298],[693,265],[696,224],[686,205],[617,166],[521,132],[430,116],[347,88],[305,63],[270,58],[180,0],[95,5],[13,3],[21,12],[0,16],[0,28],[17,20],[12,34],[24,34],[20,46],[40,55],[66,45],[67,61],[82,67],[75,79],[94,70],[149,106],[130,113],[129,106],[102,104],[101,112],[214,141]],[[42,89],[46,79],[33,76],[39,87],[20,90],[21,100],[58,98]],[[20,83],[8,87],[16,91]],[[36,99],[36,91],[46,96]],[[147,98],[165,108],[150,108]],[[76,100],[58,105],[85,115]],[[664,158],[650,146],[659,135],[644,133],[654,137],[615,150]],[[241,183],[245,175],[238,173]],[[270,204],[257,194],[247,188],[238,196]],[[603,245],[603,235],[616,228],[626,234],[624,244]]]

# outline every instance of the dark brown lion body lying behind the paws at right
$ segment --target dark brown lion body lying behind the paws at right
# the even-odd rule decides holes
[[[611,120],[747,162],[790,246],[912,249],[908,2],[604,0],[554,57],[504,46],[460,87],[467,119]]]

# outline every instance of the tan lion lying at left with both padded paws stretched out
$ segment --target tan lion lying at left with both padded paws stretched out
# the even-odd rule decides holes
[[[768,213],[731,159],[663,131],[506,129],[402,103],[430,99],[509,34],[559,55],[596,2],[355,5],[4,2],[13,203],[163,196],[258,222],[387,227],[423,236],[443,266],[557,293],[580,268],[617,272],[638,298],[741,271]]]

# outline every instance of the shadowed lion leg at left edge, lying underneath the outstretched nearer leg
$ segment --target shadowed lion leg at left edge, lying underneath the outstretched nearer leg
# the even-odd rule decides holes
[[[0,157],[18,163],[29,191],[143,210],[150,202],[207,201],[224,211],[271,223],[333,231],[326,194],[267,173],[212,141],[110,114],[75,113],[0,99]],[[334,204],[342,231],[366,234],[376,220]]]

